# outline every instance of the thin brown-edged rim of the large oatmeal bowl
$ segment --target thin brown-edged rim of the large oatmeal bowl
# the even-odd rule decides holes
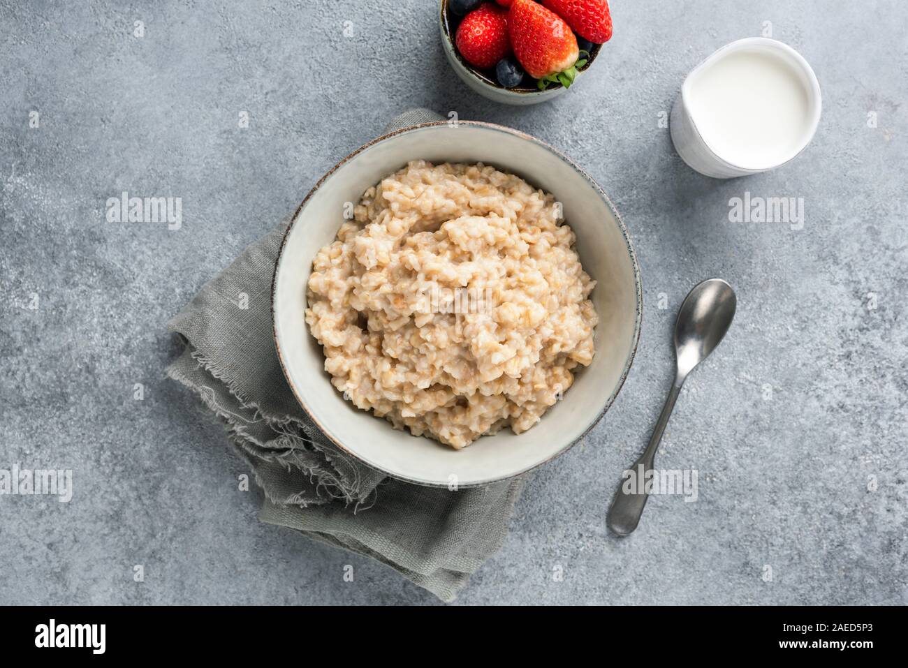
[[[637,304],[636,304],[637,312],[636,312],[635,318],[634,318],[634,334],[632,337],[633,340],[631,342],[630,350],[627,353],[627,359],[625,359],[624,367],[621,370],[621,376],[620,376],[620,378],[618,378],[615,389],[612,390],[612,393],[606,399],[606,402],[605,402],[605,404],[603,404],[603,407],[599,410],[596,417],[594,417],[590,421],[590,423],[587,425],[587,427],[584,428],[583,432],[581,432],[580,435],[577,436],[577,438],[575,438],[574,440],[572,440],[569,443],[566,443],[564,446],[560,447],[558,449],[558,451],[554,452],[549,457],[546,457],[545,459],[538,461],[536,464],[533,464],[529,467],[525,467],[515,473],[509,474],[507,476],[492,476],[489,478],[484,478],[482,480],[478,480],[478,481],[474,481],[474,482],[470,482],[470,483],[459,484],[460,488],[469,488],[469,487],[475,487],[475,486],[490,485],[492,483],[496,483],[501,480],[508,480],[512,477],[521,476],[521,475],[527,473],[528,471],[531,471],[537,467],[541,467],[543,464],[548,464],[548,462],[550,462],[550,461],[554,460],[555,458],[560,457],[561,455],[568,452],[568,450],[570,450],[572,447],[577,445],[577,443],[579,441],[583,440],[583,438],[587,436],[587,434],[590,432],[590,430],[593,427],[596,427],[596,425],[602,420],[602,417],[605,416],[608,409],[611,408],[612,404],[615,402],[615,399],[617,398],[618,393],[621,391],[621,388],[624,387],[625,380],[627,380],[627,374],[630,372],[630,368],[633,365],[634,359],[637,355],[637,346],[640,341],[640,329],[641,329],[642,321],[643,321],[643,285],[642,285],[642,281],[640,278],[640,266],[639,266],[639,263],[637,262],[637,252],[634,250],[634,243],[633,243],[633,241],[631,241],[630,235],[627,233],[627,227],[621,218],[621,214],[618,213],[617,209],[615,208],[615,204],[612,203],[612,201],[608,197],[607,193],[605,191],[603,191],[602,188],[599,186],[599,184],[596,181],[594,181],[593,178],[589,174],[587,174],[587,172],[585,172],[583,169],[581,169],[577,165],[576,162],[572,161],[564,153],[558,151],[558,149],[556,149],[551,144],[548,144],[547,142],[543,142],[542,140],[540,140],[530,134],[522,133],[518,130],[506,127],[504,125],[498,125],[497,123],[486,123],[484,121],[458,121],[458,123],[464,124],[464,125],[474,125],[477,127],[483,127],[483,128],[492,130],[494,132],[511,134],[511,135],[517,136],[520,139],[523,139],[524,141],[533,142],[533,143],[537,144],[538,146],[541,146],[544,149],[548,150],[549,152],[554,153],[555,156],[558,157],[558,159],[560,159],[563,162],[565,162],[566,164],[568,164],[569,167],[571,167],[575,172],[577,172],[580,176],[582,176],[587,181],[587,183],[589,183],[589,185],[598,193],[598,195],[602,198],[602,200],[606,202],[609,210],[612,212],[612,215],[615,217],[615,221],[617,222],[618,229],[619,229],[619,231],[621,231],[621,236],[623,237],[623,239],[625,241],[625,245],[627,247],[627,254],[631,260],[631,267],[634,270],[634,288],[635,288],[635,297],[637,299]],[[287,229],[283,232],[283,236],[281,238],[281,246],[278,251],[277,259],[274,261],[274,271],[271,276],[271,334],[272,334],[272,339],[274,341],[274,349],[277,352],[278,361],[281,364],[281,371],[283,372],[284,380],[287,382],[287,385],[290,387],[291,392],[293,393],[293,397],[296,398],[297,404],[299,404],[299,406],[300,406],[300,408],[302,408],[303,412],[305,412],[305,414],[311,419],[312,423],[316,427],[319,428],[321,433],[324,434],[325,437],[327,437],[331,441],[331,443],[333,443],[335,446],[337,446],[341,449],[341,452],[344,452],[344,453],[350,455],[350,457],[353,457],[354,459],[359,461],[361,464],[364,464],[365,466],[370,467],[372,469],[381,471],[382,473],[384,473],[390,477],[393,477],[397,480],[402,480],[404,482],[412,483],[415,485],[428,486],[428,487],[444,487],[444,486],[447,486],[447,483],[433,482],[430,480],[419,480],[419,479],[410,478],[407,476],[400,476],[398,474],[391,474],[389,471],[385,470],[384,468],[380,467],[379,465],[375,464],[374,462],[367,461],[363,457],[360,457],[360,455],[358,455],[357,453],[350,451],[349,448],[345,447],[341,443],[341,441],[338,438],[334,437],[334,435],[331,434],[331,431],[329,429],[327,429],[321,423],[321,421],[314,414],[314,412],[311,410],[311,408],[309,408],[305,404],[305,402],[302,400],[300,393],[297,391],[297,388],[294,386],[293,381],[291,380],[290,371],[287,368],[287,362],[285,361],[285,359],[283,357],[283,353],[281,352],[281,341],[278,337],[277,319],[275,318],[275,310],[276,310],[275,306],[276,306],[276,301],[277,301],[276,297],[277,297],[278,273],[280,272],[280,269],[281,269],[281,259],[283,258],[284,250],[287,247],[287,240],[290,238],[290,233],[291,233],[294,225],[296,224],[297,221],[300,220],[301,211],[305,208],[306,204],[310,201],[312,195],[315,194],[315,192],[317,192],[319,190],[319,188],[321,188],[321,185],[331,177],[331,174],[333,174],[338,169],[340,169],[342,165],[344,165],[347,162],[350,162],[351,160],[356,158],[356,156],[358,156],[361,152],[366,151],[370,147],[372,147],[380,142],[388,141],[390,138],[396,137],[400,134],[411,133],[414,131],[426,129],[426,128],[433,127],[433,126],[448,125],[448,124],[449,124],[449,121],[446,121],[446,120],[431,121],[429,123],[416,123],[414,125],[408,125],[407,127],[400,128],[399,130],[394,130],[390,133],[382,134],[379,137],[376,137],[375,139],[373,139],[372,141],[362,144],[360,146],[360,148],[356,149],[353,152],[350,152],[348,155],[346,155],[344,158],[342,158],[340,162],[337,162],[337,164],[335,164],[333,167],[331,167],[331,169],[328,172],[325,172],[325,174],[321,177],[321,179],[319,179],[319,181],[316,182],[316,184],[314,186],[312,186],[310,192],[301,201],[300,206],[298,206],[296,208],[296,211],[293,212],[293,216],[291,217],[290,222],[287,223]],[[308,332],[308,328],[306,328],[306,329],[307,329],[307,334],[309,334],[311,336],[311,334]],[[379,418],[376,417],[376,419],[379,419]],[[405,430],[405,431],[402,431],[401,433],[408,434],[409,432]]]

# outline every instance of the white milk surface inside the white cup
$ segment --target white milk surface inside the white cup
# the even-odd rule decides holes
[[[691,80],[690,114],[704,141],[732,164],[768,169],[800,150],[810,105],[800,75],[778,54],[738,51]]]

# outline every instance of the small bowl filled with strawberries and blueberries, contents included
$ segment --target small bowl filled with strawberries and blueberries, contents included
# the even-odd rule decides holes
[[[564,93],[612,36],[607,0],[441,0],[440,18],[460,79],[505,104]]]

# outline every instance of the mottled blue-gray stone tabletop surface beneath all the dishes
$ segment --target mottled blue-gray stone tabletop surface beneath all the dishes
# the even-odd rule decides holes
[[[432,0],[0,2],[0,467],[75,470],[70,504],[0,496],[0,603],[435,602],[259,524],[222,427],[163,376],[166,321],[418,105],[511,125],[583,165],[626,218],[646,299],[614,408],[538,471],[459,602],[908,603],[908,7],[613,5],[616,36],[577,89],[515,109],[449,71]],[[765,21],[814,65],[821,128],[777,172],[706,179],[659,114],[703,57]],[[182,197],[183,229],[106,223],[124,190]],[[730,224],[745,191],[804,197],[804,229]],[[655,497],[618,540],[604,517],[670,382],[674,314],[712,275],[735,286],[738,316],[658,459],[698,469],[699,500]]]

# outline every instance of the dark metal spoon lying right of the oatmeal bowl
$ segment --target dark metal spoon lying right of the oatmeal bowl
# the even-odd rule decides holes
[[[704,280],[690,291],[681,304],[675,322],[677,359],[675,383],[668,393],[666,407],[662,409],[662,414],[656,422],[649,445],[631,467],[635,476],[640,470],[646,472],[653,468],[659,441],[662,440],[662,433],[666,430],[668,418],[672,415],[672,408],[675,408],[678,393],[684,385],[687,374],[719,345],[719,341],[732,324],[732,319],[735,318],[736,306],[735,290],[721,279]],[[627,494],[623,484],[618,486],[615,500],[608,509],[608,528],[617,535],[628,535],[637,528],[648,498],[646,491],[641,489],[643,482],[642,479],[637,481],[637,494]]]

